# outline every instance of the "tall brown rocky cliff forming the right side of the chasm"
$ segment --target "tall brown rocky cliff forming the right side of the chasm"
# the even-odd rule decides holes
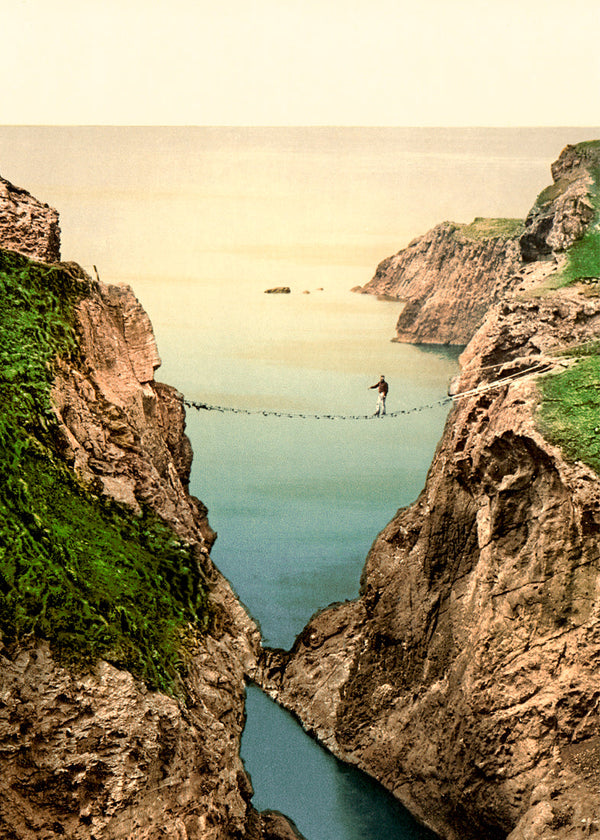
[[[544,236],[578,224],[540,210]],[[309,732],[446,840],[600,834],[600,298],[597,281],[561,286],[569,260],[524,264],[488,311],[426,486],[375,540],[360,597],[262,663]],[[541,431],[558,370],[574,377],[569,458]]]

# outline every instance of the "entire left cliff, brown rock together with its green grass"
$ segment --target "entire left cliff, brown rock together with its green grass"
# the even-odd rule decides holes
[[[182,397],[154,379],[160,362],[147,315],[131,289],[92,281],[74,264],[50,269],[4,251],[0,280],[6,326],[22,321],[30,342],[22,364],[24,339],[0,347],[0,836],[297,836],[283,817],[250,803],[239,743],[259,632],[210,560],[215,535],[187,492]],[[54,317],[67,294],[72,340]],[[37,372],[32,337],[43,343],[61,332],[70,350],[42,359]],[[38,377],[49,368],[47,409]],[[14,412],[25,421],[15,425]],[[65,464],[71,477],[46,489]],[[94,554],[96,543],[106,551]],[[163,563],[157,583],[143,564],[129,568],[132,552],[179,560]],[[137,594],[124,601],[131,575]],[[134,626],[143,617],[138,599],[149,610],[160,600],[155,620],[177,628],[177,663],[167,662],[167,672]],[[66,614],[64,603],[72,605]],[[196,614],[201,625],[186,619]],[[90,658],[95,639],[104,657]],[[174,681],[158,690],[130,673],[130,660],[159,685],[161,673]]]

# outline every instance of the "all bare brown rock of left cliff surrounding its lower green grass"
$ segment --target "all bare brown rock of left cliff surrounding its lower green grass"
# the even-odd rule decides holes
[[[78,353],[54,382],[62,457],[95,493],[134,515],[149,506],[192,547],[212,623],[186,638],[185,702],[108,662],[79,673],[43,641],[0,641],[0,836],[289,840],[290,823],[250,802],[239,745],[260,634],[213,566],[215,534],[188,494],[182,396],[154,380],[152,328],[131,289],[62,269],[86,289]]]

